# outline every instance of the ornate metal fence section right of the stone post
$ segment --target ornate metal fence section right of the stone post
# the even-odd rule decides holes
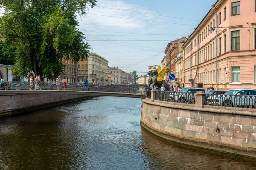
[[[205,105],[256,108],[256,96],[205,94]]]

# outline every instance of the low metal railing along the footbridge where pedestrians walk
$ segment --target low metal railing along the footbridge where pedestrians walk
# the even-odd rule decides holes
[[[83,83],[67,83],[65,90],[69,91],[81,91]],[[6,90],[29,90],[29,82],[11,82],[9,85],[5,83]],[[115,92],[115,93],[131,93],[131,94],[146,94],[145,85],[94,85],[89,83],[88,87],[90,91],[102,91],[102,92]],[[0,88],[3,90],[4,88]],[[35,82],[33,82],[32,90],[35,90]],[[60,85],[60,89],[63,90],[63,83]],[[37,90],[57,90],[55,83],[39,83]],[[87,88],[84,89],[85,91]]]

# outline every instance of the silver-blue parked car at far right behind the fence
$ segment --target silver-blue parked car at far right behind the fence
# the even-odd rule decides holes
[[[224,106],[255,106],[256,89],[233,89],[215,96],[214,104]]]

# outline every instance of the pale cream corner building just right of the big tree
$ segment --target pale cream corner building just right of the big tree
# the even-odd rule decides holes
[[[108,60],[96,53],[88,57],[88,82],[94,84],[108,84]]]

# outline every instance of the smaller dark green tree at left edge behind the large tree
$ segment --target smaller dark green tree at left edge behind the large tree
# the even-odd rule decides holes
[[[15,49],[10,48],[5,41],[0,41],[0,64],[14,65]]]

